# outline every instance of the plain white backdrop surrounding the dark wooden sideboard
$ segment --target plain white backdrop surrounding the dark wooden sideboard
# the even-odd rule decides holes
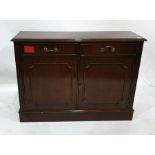
[[[126,122],[130,128],[125,128],[122,123],[108,122],[105,130],[99,130],[106,122],[99,124],[87,124],[77,130],[77,124],[68,133],[70,124],[65,123],[60,130],[46,130],[47,126],[39,126],[38,134],[155,134],[155,21],[0,21],[0,134],[28,134],[36,133],[35,126],[23,127],[18,121],[18,95],[16,84],[16,68],[14,61],[13,43],[10,40],[19,31],[133,31],[148,41],[144,43],[142,61],[139,72],[138,86],[135,96],[134,120]],[[139,120],[138,126],[133,126]],[[7,123],[6,123],[7,122]],[[12,127],[11,124],[14,124]],[[19,124],[18,124],[19,123]],[[93,123],[93,122],[92,122]],[[110,124],[109,124],[110,123]],[[113,124],[116,127],[114,129]],[[147,124],[150,123],[150,124]],[[5,125],[4,125],[5,124]],[[116,125],[117,124],[117,125]],[[59,123],[53,123],[59,128]],[[58,125],[58,126],[57,126]],[[109,125],[109,126],[108,126]],[[95,131],[92,131],[93,126]],[[148,127],[149,126],[149,127]],[[46,127],[46,128],[45,128]],[[43,129],[42,129],[43,128]],[[29,130],[25,130],[29,129]],[[122,129],[124,132],[122,132]]]

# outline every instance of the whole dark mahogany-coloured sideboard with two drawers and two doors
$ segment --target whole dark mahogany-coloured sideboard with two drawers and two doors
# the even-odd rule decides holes
[[[130,31],[21,31],[21,122],[132,120],[145,38]]]

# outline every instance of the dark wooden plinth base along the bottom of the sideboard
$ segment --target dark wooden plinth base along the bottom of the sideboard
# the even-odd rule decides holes
[[[133,111],[126,110],[53,110],[20,111],[21,122],[132,120]]]

